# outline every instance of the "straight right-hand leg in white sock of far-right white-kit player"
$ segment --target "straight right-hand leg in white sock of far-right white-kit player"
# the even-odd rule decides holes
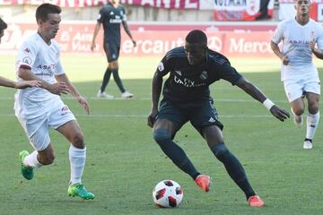
[[[306,137],[304,140],[304,149],[312,148],[312,140],[319,125],[319,94],[307,92],[309,114],[306,120]]]

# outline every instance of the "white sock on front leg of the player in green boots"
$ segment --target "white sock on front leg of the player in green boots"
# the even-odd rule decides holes
[[[70,184],[74,185],[76,183],[81,183],[86,159],[86,148],[78,149],[71,144],[68,153],[71,164]]]

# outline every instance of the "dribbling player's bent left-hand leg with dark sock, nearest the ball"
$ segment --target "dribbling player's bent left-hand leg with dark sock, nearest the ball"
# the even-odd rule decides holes
[[[178,144],[172,141],[173,136],[184,125],[187,120],[182,113],[170,102],[162,100],[160,112],[153,125],[153,139],[161,147],[162,151],[171,159],[171,161],[182,171],[187,173],[193,179],[200,174],[197,172],[193,163],[188,159],[185,151]]]

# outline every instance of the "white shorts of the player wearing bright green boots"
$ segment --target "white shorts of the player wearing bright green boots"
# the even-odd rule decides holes
[[[75,120],[75,116],[62,100],[58,100],[46,115],[33,119],[18,116],[18,119],[32,147],[39,151],[45,150],[50,143],[49,127],[57,129],[59,126]]]

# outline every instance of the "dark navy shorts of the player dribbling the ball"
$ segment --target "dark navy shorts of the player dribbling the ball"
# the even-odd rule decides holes
[[[213,99],[186,103],[162,99],[157,119],[170,120],[176,126],[176,131],[188,121],[201,135],[202,129],[209,125],[216,125],[223,130],[223,124],[218,119]]]

